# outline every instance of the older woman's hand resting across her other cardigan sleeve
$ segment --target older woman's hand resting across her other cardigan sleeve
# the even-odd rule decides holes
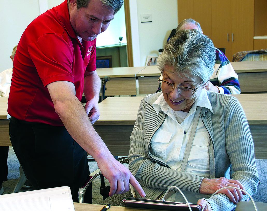
[[[245,191],[244,186],[238,180],[229,180],[225,177],[220,177],[216,179],[207,179],[204,178],[199,187],[199,193],[201,194],[213,194],[215,191],[219,190],[220,188],[232,186],[241,188]],[[242,200],[243,195],[246,195],[244,192],[235,189],[235,188],[226,188],[218,193],[223,193],[229,197],[229,199],[234,203],[237,204],[239,201]]]

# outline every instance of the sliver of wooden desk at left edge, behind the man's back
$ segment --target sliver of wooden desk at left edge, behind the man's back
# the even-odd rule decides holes
[[[8,97],[0,97],[0,146],[11,146],[9,140],[9,119],[10,115],[7,113]]]

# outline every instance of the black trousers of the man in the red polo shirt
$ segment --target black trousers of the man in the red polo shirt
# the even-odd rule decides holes
[[[89,175],[87,152],[64,126],[30,123],[11,117],[9,136],[23,171],[35,189],[68,186],[77,202]],[[85,203],[92,203],[92,187]]]

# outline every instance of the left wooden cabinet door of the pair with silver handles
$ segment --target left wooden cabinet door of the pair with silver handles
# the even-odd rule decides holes
[[[211,1],[212,42],[217,48],[225,48],[225,55],[231,61],[231,0]]]

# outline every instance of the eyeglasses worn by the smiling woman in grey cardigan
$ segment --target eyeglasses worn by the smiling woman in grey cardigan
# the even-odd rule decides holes
[[[158,82],[159,82],[159,86],[162,89],[162,91],[171,92],[175,88],[175,89],[178,89],[178,92],[180,93],[180,95],[184,97],[191,97],[197,91],[198,87],[202,84],[201,82],[201,84],[199,84],[197,88],[193,89],[193,88],[186,87],[186,86],[175,87],[173,84],[167,81],[161,80],[161,79],[159,79]]]

